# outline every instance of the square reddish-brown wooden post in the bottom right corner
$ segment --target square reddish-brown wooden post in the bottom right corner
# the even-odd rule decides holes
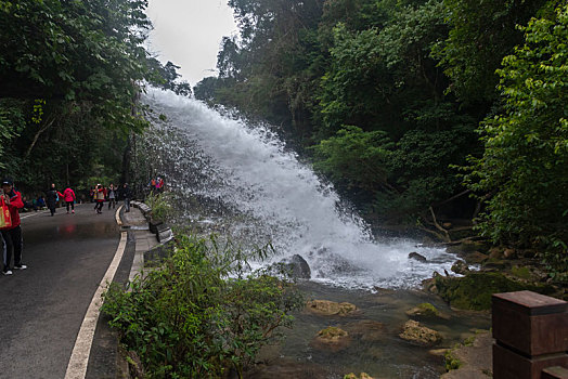
[[[566,301],[531,291],[494,293],[492,324],[494,379],[544,379],[546,368],[568,368]]]

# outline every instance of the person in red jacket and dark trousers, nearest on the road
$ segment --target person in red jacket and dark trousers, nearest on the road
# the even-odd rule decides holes
[[[14,183],[10,179],[2,179],[2,194],[4,204],[10,209],[12,225],[0,228],[3,239],[3,270],[4,275],[12,275],[10,263],[12,260],[12,250],[14,251],[14,269],[26,270],[27,266],[22,263],[22,226],[20,225],[18,209],[24,208],[22,194],[14,190]]]

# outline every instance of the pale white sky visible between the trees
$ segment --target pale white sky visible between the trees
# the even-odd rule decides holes
[[[146,11],[154,30],[149,47],[163,63],[181,66],[183,80],[193,87],[217,75],[221,39],[237,31],[227,0],[150,0]]]

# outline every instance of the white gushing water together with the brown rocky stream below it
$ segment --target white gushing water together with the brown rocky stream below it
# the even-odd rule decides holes
[[[311,279],[299,283],[308,299],[347,301],[361,310],[351,317],[299,312],[284,342],[262,351],[259,360],[266,365],[250,378],[335,379],[351,371],[373,378],[438,378],[443,360],[398,337],[409,319],[404,312],[430,302],[449,315],[424,322],[442,335],[441,347],[489,327],[489,315],[454,312],[417,290],[434,271],[450,271],[455,256],[412,239],[374,237],[352,207],[286,149],[271,128],[157,89],[150,88],[143,102],[152,109],[153,127],[138,142],[138,156],[156,170],[149,174],[165,178],[182,214],[179,224],[248,246],[270,241],[274,253],[254,262],[256,267],[300,254],[311,270]],[[426,261],[410,260],[413,251]],[[382,323],[384,329],[371,337],[363,332],[337,353],[310,344],[325,327],[353,328],[362,321]]]

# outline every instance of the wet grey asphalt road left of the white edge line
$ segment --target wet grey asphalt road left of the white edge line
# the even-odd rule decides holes
[[[0,275],[0,378],[64,378],[89,303],[118,246],[115,211],[23,213],[25,271]],[[132,254],[121,271],[129,272]],[[128,276],[127,276],[128,277]],[[112,349],[112,347],[111,347]]]

